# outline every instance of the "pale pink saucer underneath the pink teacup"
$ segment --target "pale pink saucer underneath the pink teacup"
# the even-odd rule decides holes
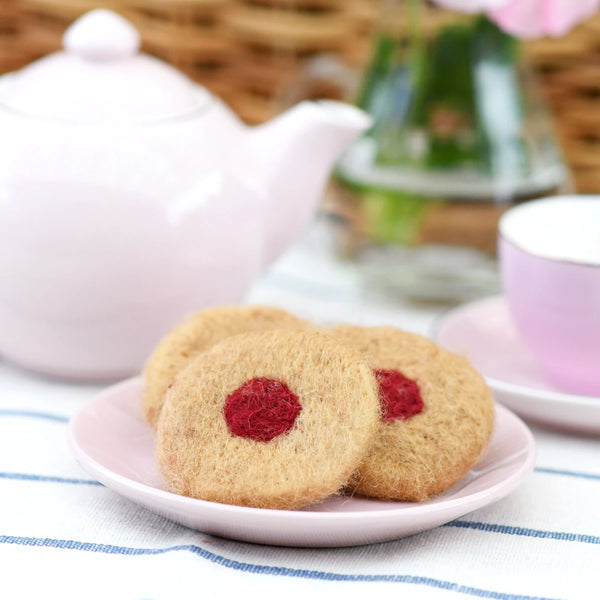
[[[496,400],[523,418],[600,433],[600,398],[564,393],[544,378],[519,338],[504,297],[451,310],[438,322],[433,337],[465,355],[486,378]]]

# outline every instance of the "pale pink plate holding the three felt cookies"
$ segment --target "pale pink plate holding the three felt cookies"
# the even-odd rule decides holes
[[[422,504],[336,497],[303,510],[230,506],[163,489],[154,462],[154,432],[141,411],[140,378],[106,389],[69,423],[81,466],[117,493],[173,521],[222,537],[280,546],[337,547],[383,542],[447,523],[503,498],[532,470],[533,437],[497,406],[490,445],[458,484]]]

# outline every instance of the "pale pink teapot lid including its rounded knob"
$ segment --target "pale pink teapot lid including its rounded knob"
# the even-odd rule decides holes
[[[0,79],[5,108],[71,121],[180,117],[210,97],[183,73],[141,53],[135,27],[105,9],[75,21],[63,36],[63,51]]]

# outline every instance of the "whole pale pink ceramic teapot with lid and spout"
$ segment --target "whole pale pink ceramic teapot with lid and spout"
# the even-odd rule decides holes
[[[247,127],[106,10],[63,46],[0,78],[0,355],[114,379],[186,314],[242,298],[370,120],[303,102]]]

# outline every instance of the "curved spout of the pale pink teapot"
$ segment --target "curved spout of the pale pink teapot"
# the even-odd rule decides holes
[[[333,100],[304,101],[250,129],[246,160],[269,197],[265,263],[303,233],[337,158],[371,126],[371,117]]]

